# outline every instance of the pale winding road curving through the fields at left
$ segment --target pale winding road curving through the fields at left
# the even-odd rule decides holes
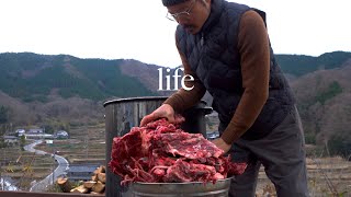
[[[47,152],[41,151],[41,150],[35,150],[34,147],[36,144],[42,143],[43,140],[36,140],[35,142],[27,144],[24,147],[24,150],[30,151],[30,152],[35,152],[35,154],[49,154]],[[68,161],[60,157],[60,155],[56,155],[56,154],[49,154],[53,157],[55,157],[55,161],[58,163],[58,166],[55,169],[54,173],[49,174],[48,176],[46,176],[44,179],[42,179],[41,182],[35,183],[30,192],[44,192],[46,190],[48,185],[52,185],[58,176],[65,174],[65,171],[69,169],[69,163]],[[54,176],[54,178],[53,178]]]

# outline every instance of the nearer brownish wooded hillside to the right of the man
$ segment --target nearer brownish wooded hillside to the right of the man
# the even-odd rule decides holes
[[[340,68],[318,70],[294,80],[308,143],[328,147],[330,154],[351,153],[351,61]]]

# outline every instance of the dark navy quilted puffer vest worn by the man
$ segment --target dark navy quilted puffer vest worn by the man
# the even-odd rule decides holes
[[[254,10],[247,5],[212,0],[211,14],[196,35],[181,25],[177,28],[180,50],[191,69],[213,96],[212,107],[218,113],[219,132],[229,124],[244,93],[238,44],[241,15]],[[264,12],[256,10],[264,19]],[[268,135],[286,116],[294,104],[293,94],[278,66],[271,48],[269,99],[259,117],[241,137],[248,140]]]

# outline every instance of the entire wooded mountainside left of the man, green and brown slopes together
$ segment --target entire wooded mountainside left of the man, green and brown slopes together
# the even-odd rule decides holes
[[[15,125],[101,123],[106,101],[174,92],[166,91],[165,77],[158,91],[158,69],[137,60],[0,54],[0,113]]]

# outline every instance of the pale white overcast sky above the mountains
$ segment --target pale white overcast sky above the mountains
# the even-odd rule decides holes
[[[230,0],[233,1],[233,0]],[[350,0],[238,0],[267,12],[275,54],[351,51]],[[181,65],[161,0],[0,0],[0,53]]]

